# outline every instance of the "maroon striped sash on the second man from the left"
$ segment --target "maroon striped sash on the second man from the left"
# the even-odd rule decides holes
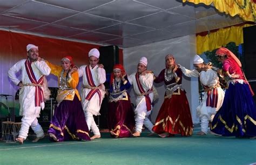
[[[93,82],[93,79],[92,79],[92,73],[91,73],[91,70],[90,70],[90,67],[89,65],[87,65],[85,67],[85,73],[86,73],[86,78],[87,78],[87,81],[88,81],[88,84],[92,87],[96,87],[96,85],[94,84]],[[102,99],[102,94],[100,93],[100,91],[98,89],[92,89],[86,96],[86,100],[90,101],[91,98],[93,97],[93,95],[95,95],[95,93],[98,93],[99,95],[99,104],[101,102],[101,99]]]

